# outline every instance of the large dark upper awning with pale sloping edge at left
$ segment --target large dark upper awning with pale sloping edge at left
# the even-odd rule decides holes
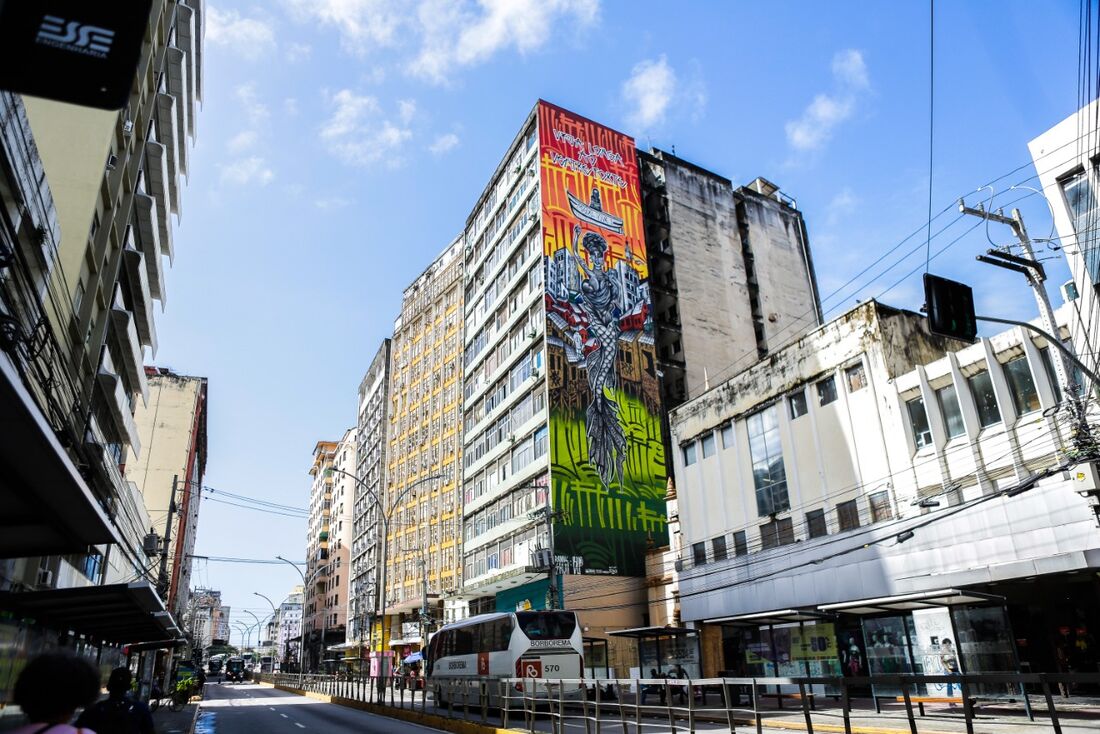
[[[0,358],[0,558],[87,552],[89,546],[121,543],[4,358]]]

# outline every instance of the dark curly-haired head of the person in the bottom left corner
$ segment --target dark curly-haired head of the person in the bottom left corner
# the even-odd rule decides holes
[[[63,653],[40,655],[26,664],[12,691],[29,723],[9,734],[95,734],[68,722],[98,697],[99,672],[90,662]]]

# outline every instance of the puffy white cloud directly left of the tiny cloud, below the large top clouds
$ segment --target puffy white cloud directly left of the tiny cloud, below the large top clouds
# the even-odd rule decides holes
[[[350,89],[341,89],[331,99],[332,116],[321,125],[321,140],[329,152],[351,165],[385,163],[400,165],[400,152],[406,141],[413,136],[407,122],[393,122],[382,114],[382,108],[374,97],[356,95]]]

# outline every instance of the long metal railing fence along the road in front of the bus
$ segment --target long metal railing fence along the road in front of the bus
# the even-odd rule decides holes
[[[641,734],[755,728],[785,719],[813,734],[860,720],[891,720],[919,734],[925,722],[963,723],[981,731],[1021,725],[1063,734],[1072,725],[1100,731],[1100,673],[960,673],[868,678],[541,679],[370,678],[354,675],[265,675],[278,686],[528,732]],[[944,690],[947,694],[944,694]],[[1088,691],[1094,695],[1086,695]],[[871,695],[867,695],[871,691]],[[957,691],[957,693],[956,693]],[[927,719],[926,719],[927,717]],[[574,730],[575,731],[575,730]],[[1034,730],[1033,730],[1034,731]]]

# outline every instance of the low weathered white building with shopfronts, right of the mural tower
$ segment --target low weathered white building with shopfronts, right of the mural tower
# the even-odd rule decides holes
[[[676,408],[685,669],[933,672],[945,638],[964,671],[1088,651],[1097,471],[1050,351],[868,302]]]

